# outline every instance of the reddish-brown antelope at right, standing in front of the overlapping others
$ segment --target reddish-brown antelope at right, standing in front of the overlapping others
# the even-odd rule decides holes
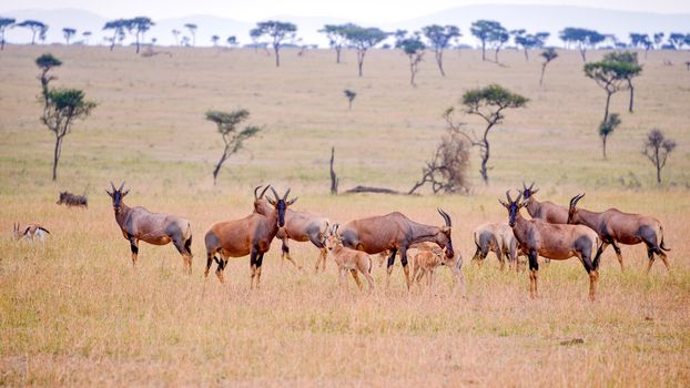
[[[508,224],[513,228],[515,238],[520,248],[529,258],[529,294],[534,298],[538,295],[537,275],[539,263],[537,256],[564,261],[577,256],[589,274],[589,298],[595,300],[597,282],[599,279],[600,239],[597,233],[582,225],[550,224],[541,219],[525,219],[520,208],[527,202],[520,203],[522,193],[517,200],[510,198],[510,191],[506,192],[508,203],[498,200],[508,210]],[[596,255],[595,255],[596,254]],[[592,256],[593,259],[592,259]]]

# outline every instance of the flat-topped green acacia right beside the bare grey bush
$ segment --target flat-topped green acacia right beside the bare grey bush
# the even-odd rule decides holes
[[[481,155],[481,169],[479,173],[485,184],[489,184],[489,167],[488,161],[490,156],[489,132],[497,124],[503,123],[505,119],[505,110],[513,108],[522,108],[529,100],[517,93],[513,93],[509,90],[497,85],[490,84],[485,88],[473,89],[463,95],[463,105],[465,105],[465,113],[477,115],[486,122],[486,127],[480,135],[477,135],[475,131],[465,130],[461,124],[456,123],[453,120],[455,109],[448,108],[444,113],[444,119],[448,125],[448,130],[463,135],[470,145],[478,146]]]

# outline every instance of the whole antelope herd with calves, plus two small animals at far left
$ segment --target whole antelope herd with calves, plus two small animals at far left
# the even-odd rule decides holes
[[[130,192],[124,191],[124,182],[119,188],[111,182],[112,191],[105,193],[112,200],[115,222],[122,235],[130,243],[132,265],[136,266],[139,242],[152,245],[173,243],[182,255],[185,270],[192,272],[192,227],[183,217],[151,213],[136,206],[129,207],[123,198]],[[569,206],[560,206],[551,202],[538,202],[535,194],[539,191],[532,184],[528,187],[522,183],[517,197],[513,200],[510,191],[506,192],[506,200],[499,203],[508,212],[507,222],[485,223],[473,231],[476,252],[473,262],[481,265],[489,252],[494,252],[504,269],[507,261],[516,270],[520,270],[519,256],[526,256],[529,265],[530,297],[538,296],[538,256],[547,259],[564,261],[577,257],[589,275],[589,298],[593,300],[597,294],[599,279],[599,263],[601,254],[612,245],[623,270],[623,261],[619,244],[636,245],[643,243],[647,246],[651,268],[655,258],[661,257],[667,270],[670,269],[663,241],[661,223],[651,216],[629,214],[616,208],[597,213],[578,207],[585,194],[570,200]],[[258,192],[261,188],[261,193]],[[266,192],[271,190],[271,194]],[[240,219],[220,221],[212,224],[204,235],[206,251],[206,267],[204,277],[209,276],[212,264],[215,262],[215,274],[224,283],[224,269],[230,257],[250,256],[251,279],[250,287],[261,286],[261,270],[264,254],[271,248],[274,238],[282,242],[282,258],[291,262],[295,267],[302,267],[290,255],[288,241],[311,242],[319,251],[314,269],[325,270],[326,258],[331,254],[338,268],[341,286],[344,285],[347,273],[352,275],[362,289],[359,280],[362,274],[368,283],[369,293],[375,289],[372,277],[372,257],[378,255],[379,266],[387,258],[386,288],[389,286],[390,274],[395,257],[399,255],[405,275],[407,289],[414,283],[420,285],[427,277],[429,292],[433,287],[434,272],[438,266],[448,267],[456,277],[456,285],[460,285],[465,295],[465,280],[461,272],[463,258],[453,247],[453,222],[444,210],[437,212],[443,218],[442,225],[426,225],[412,221],[400,212],[380,216],[372,216],[349,221],[343,225],[332,223],[331,219],[290,208],[297,198],[288,198],[291,190],[280,195],[271,185],[257,186],[254,190],[252,212]],[[58,204],[87,207],[87,198],[60,193]],[[530,219],[522,217],[520,210],[526,208]],[[43,242],[48,229],[41,224],[32,223],[21,226],[13,224],[16,241],[40,239]],[[408,255],[412,257],[412,277],[408,267]]]

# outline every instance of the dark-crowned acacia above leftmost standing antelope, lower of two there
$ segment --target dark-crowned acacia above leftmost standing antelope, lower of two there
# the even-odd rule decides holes
[[[58,178],[58,162],[64,136],[70,133],[74,121],[85,119],[94,108],[95,102],[87,101],[81,90],[51,89],[48,92],[41,122],[55,134],[53,181]]]

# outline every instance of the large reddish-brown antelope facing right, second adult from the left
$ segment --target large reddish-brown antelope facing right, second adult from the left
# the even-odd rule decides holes
[[[273,206],[273,211],[264,215],[261,213],[262,205],[258,201],[268,187],[275,198],[267,197],[268,203]],[[206,244],[206,270],[204,276],[209,276],[211,264],[215,261],[217,264],[215,275],[221,283],[224,283],[223,270],[227,265],[229,258],[250,255],[250,287],[254,288],[254,278],[256,278],[256,288],[260,287],[261,266],[264,254],[271,248],[271,242],[277,234],[278,228],[285,226],[285,210],[294,204],[297,198],[287,201],[290,188],[281,197],[271,185],[264,188],[260,197],[256,197],[256,190],[254,195],[256,198],[254,201],[254,213],[240,219],[217,222],[211,225],[206,232],[204,236]],[[220,254],[220,259],[216,257],[216,253]]]

